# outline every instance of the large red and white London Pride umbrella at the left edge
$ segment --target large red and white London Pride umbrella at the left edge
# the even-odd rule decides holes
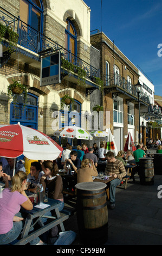
[[[18,124],[0,125],[0,156],[28,159],[55,160],[63,148],[53,139],[33,128]]]

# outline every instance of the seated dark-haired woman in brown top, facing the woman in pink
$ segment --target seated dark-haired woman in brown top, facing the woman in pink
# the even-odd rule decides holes
[[[64,207],[63,194],[62,194],[62,178],[58,174],[58,166],[51,161],[44,161],[42,163],[42,170],[44,175],[41,178],[43,191],[48,188],[48,197],[61,201],[59,204],[59,211]]]

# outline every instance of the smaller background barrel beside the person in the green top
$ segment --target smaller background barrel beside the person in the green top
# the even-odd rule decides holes
[[[152,157],[139,159],[139,178],[142,185],[154,184],[154,166]]]

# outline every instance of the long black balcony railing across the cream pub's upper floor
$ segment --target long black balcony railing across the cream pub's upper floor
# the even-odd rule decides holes
[[[20,17],[15,17],[14,15],[11,15],[7,10],[1,7],[0,22],[3,25],[12,28],[14,32],[17,32],[17,34],[19,35],[18,45],[23,46],[37,54],[48,49],[50,49],[51,52],[61,51],[61,54],[64,56],[65,59],[67,59],[73,65],[79,66],[86,71],[86,78],[100,76],[100,70],[94,68],[92,65],[89,65],[81,58],[75,56],[74,54],[72,54],[72,52],[57,44],[57,42],[51,40],[43,33],[36,31],[36,29],[31,27],[30,25],[21,21]],[[16,50],[21,51],[18,47]]]

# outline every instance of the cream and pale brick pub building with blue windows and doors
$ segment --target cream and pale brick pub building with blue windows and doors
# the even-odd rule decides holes
[[[61,109],[61,99],[74,99],[74,113],[68,123],[81,126],[81,114],[90,111],[100,100],[100,86],[91,80],[100,70],[90,64],[90,9],[82,0],[8,0],[1,1],[0,29],[18,34],[17,43],[2,35],[3,54],[0,68],[0,123],[34,127],[49,136],[64,125],[67,118]],[[14,34],[15,35],[15,34]],[[10,44],[11,42],[11,44]],[[96,54],[98,51],[93,49]],[[40,86],[41,57],[60,52],[60,83]],[[63,60],[73,64],[63,66]],[[76,72],[74,70],[76,68]],[[80,72],[79,72],[80,71]],[[8,100],[8,86],[20,81],[28,89],[27,103],[18,96],[15,106]],[[91,99],[90,99],[91,97]],[[70,106],[71,107],[71,106]],[[68,109],[68,108],[66,108]],[[59,114],[56,114],[58,111]],[[57,140],[57,138],[56,138]]]

